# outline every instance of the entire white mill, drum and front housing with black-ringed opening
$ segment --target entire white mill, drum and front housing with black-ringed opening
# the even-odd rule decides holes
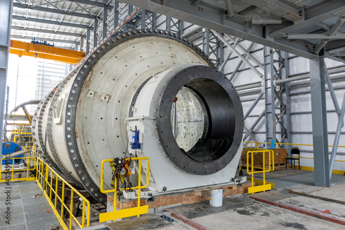
[[[170,192],[235,177],[243,117],[235,88],[197,46],[172,32],[133,30],[72,70],[39,104],[32,128],[47,162],[106,204],[101,161],[124,157],[135,126],[137,155],[150,157],[149,188]]]

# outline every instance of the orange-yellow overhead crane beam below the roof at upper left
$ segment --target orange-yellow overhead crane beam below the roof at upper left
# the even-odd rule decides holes
[[[10,53],[18,55],[19,57],[39,57],[42,59],[61,61],[68,64],[77,64],[79,61],[81,61],[81,59],[83,59],[83,57],[86,56],[85,52],[57,48],[42,44],[32,44],[17,40],[11,40]]]

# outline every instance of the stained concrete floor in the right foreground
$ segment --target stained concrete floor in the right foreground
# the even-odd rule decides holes
[[[310,211],[331,210],[332,217],[345,221],[345,206],[315,198],[288,193],[289,190],[345,201],[345,176],[333,175],[331,188],[313,186],[314,173],[311,171],[282,170],[267,174],[267,180],[275,182],[276,189],[266,193],[256,193],[257,198],[302,207]],[[210,207],[209,202],[199,202],[166,210],[183,215],[208,229],[345,229],[344,225],[322,220],[310,215],[297,213],[270,204],[257,202],[251,195],[237,195],[223,200],[222,207]],[[104,224],[104,229],[195,229],[177,220],[168,222],[161,218],[162,213],[128,218],[120,222]],[[170,216],[171,217],[171,216]]]

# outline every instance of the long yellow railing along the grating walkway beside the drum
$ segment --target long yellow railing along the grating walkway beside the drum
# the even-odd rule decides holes
[[[55,180],[55,182],[54,182]],[[72,229],[72,221],[74,220],[78,226],[83,227],[90,226],[90,201],[88,201],[77,189],[70,185],[66,180],[63,180],[59,174],[57,174],[46,162],[43,162],[41,158],[37,157],[37,173],[36,181],[50,207],[57,216],[63,230]],[[67,192],[70,196],[70,200],[66,200],[65,195]],[[74,200],[81,199],[83,202],[81,222],[73,214]],[[54,203],[53,203],[54,202]],[[60,211],[58,209],[60,208]],[[68,213],[69,224],[68,226],[63,221],[64,211]]]

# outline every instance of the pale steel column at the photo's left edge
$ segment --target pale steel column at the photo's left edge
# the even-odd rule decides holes
[[[10,34],[12,20],[12,0],[0,1],[0,133],[3,133],[3,115],[6,100],[6,79],[8,70],[8,55],[10,52]],[[2,137],[0,138],[0,155],[2,152]]]

